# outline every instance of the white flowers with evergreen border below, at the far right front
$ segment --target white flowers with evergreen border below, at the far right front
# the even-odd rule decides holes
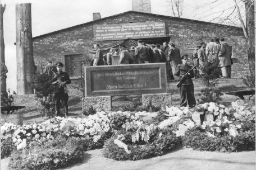
[[[205,116],[212,118],[186,131],[182,138],[186,147],[220,152],[255,150],[255,114],[236,103],[231,108],[204,103],[202,108]]]

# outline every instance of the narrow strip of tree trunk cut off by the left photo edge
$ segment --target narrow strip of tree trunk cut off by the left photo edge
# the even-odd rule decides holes
[[[4,38],[3,38],[3,12],[6,9],[6,4],[2,6],[0,5],[0,55],[1,55],[1,62],[5,63],[5,58],[4,58]],[[2,65],[0,66],[2,67]],[[6,78],[1,80],[1,91],[6,92]]]

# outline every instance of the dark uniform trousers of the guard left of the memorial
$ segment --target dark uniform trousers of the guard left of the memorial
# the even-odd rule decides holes
[[[60,114],[60,102],[64,105],[65,113],[68,114],[68,95],[64,92],[53,93],[56,114]]]

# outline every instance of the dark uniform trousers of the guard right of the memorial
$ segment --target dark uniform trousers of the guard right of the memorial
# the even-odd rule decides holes
[[[180,106],[194,107],[196,104],[194,96],[194,84],[181,85],[180,87]]]

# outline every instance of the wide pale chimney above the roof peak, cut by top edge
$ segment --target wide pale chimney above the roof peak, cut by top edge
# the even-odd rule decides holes
[[[151,0],[132,0],[132,11],[151,13]]]

